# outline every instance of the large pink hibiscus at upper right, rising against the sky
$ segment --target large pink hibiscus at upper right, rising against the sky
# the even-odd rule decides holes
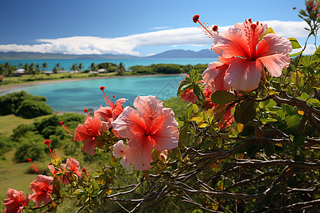
[[[267,24],[235,23],[234,27],[224,33],[213,35],[215,44],[211,50],[220,55],[220,62],[213,62],[203,73],[206,83],[213,84],[215,90],[228,90],[231,87],[251,91],[256,89],[262,67],[274,77],[279,77],[284,67],[288,67],[290,58],[287,53],[292,45],[287,38],[269,33],[260,36],[267,30]]]

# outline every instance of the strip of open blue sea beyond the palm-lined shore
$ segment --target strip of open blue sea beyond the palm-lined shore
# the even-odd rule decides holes
[[[46,70],[53,70],[53,67],[60,63],[61,67],[64,67],[65,70],[70,70],[70,67],[73,63],[80,63],[84,65],[85,70],[90,69],[91,62],[94,62],[96,65],[102,62],[113,62],[119,64],[119,62],[123,62],[126,68],[129,68],[134,65],[151,65],[151,64],[178,64],[178,65],[197,65],[197,64],[208,64],[209,62],[213,62],[218,60],[218,58],[137,58],[137,59],[43,59],[43,60],[0,60],[0,64],[4,64],[5,62],[9,62],[11,65],[18,66],[20,63],[31,64],[33,62],[34,65],[37,63],[42,65],[43,62],[48,64],[48,68]]]

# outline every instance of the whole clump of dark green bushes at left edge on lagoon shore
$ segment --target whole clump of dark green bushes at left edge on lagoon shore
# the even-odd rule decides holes
[[[25,91],[6,94],[0,97],[0,115],[15,114],[31,119],[51,114],[53,110],[45,103],[46,100],[46,97],[35,96]]]

